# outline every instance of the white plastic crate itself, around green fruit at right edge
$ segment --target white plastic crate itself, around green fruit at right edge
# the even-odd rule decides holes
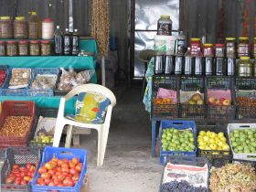
[[[232,146],[232,142],[230,140],[230,133],[234,132],[235,129],[256,129],[256,123],[229,123],[228,124],[228,134],[229,134],[229,144]],[[233,150],[233,147],[230,147],[233,158],[248,160],[248,161],[256,161],[256,154],[236,154]]]

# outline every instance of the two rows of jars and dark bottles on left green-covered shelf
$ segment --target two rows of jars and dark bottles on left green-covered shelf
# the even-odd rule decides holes
[[[37,12],[30,16],[0,16],[0,56],[77,56],[80,36],[78,30],[63,34],[54,29],[51,18],[40,18]]]

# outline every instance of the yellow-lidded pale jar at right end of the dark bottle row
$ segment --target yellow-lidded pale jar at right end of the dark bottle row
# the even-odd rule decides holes
[[[241,57],[238,62],[238,76],[251,77],[252,63],[249,57]]]

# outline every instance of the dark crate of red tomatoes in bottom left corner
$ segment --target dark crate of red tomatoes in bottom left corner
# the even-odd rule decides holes
[[[1,191],[30,191],[30,182],[36,173],[41,151],[34,147],[7,148],[1,170]]]

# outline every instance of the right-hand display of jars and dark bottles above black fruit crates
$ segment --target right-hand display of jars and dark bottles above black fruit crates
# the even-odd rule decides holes
[[[227,37],[224,44],[202,44],[177,37],[176,51],[155,53],[152,117],[256,119],[256,38]]]

